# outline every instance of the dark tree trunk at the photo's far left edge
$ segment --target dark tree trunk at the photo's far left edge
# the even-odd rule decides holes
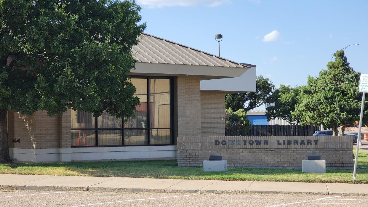
[[[9,156],[7,109],[0,109],[0,163],[11,163]]]

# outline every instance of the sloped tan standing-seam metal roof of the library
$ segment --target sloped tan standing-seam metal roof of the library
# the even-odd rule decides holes
[[[139,36],[139,43],[133,46],[132,53],[135,60],[138,60],[138,63],[250,68],[247,65],[236,63],[147,33],[142,33]]]

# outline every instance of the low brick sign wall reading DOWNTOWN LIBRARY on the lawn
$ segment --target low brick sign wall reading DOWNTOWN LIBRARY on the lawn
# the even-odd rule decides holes
[[[353,136],[178,137],[177,145],[179,166],[221,155],[228,166],[301,167],[308,155],[320,155],[328,168],[353,167]]]

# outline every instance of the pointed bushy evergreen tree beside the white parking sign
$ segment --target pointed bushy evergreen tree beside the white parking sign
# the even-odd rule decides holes
[[[339,135],[344,133],[344,125],[359,119],[362,94],[358,91],[359,75],[349,66],[344,51],[337,51],[335,61],[327,64],[327,70],[318,77],[308,77],[307,90],[291,112],[301,124],[323,124],[333,129],[341,126]]]

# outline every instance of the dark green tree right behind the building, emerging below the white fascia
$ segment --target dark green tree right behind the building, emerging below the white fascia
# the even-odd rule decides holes
[[[275,85],[262,75],[256,79],[256,92],[234,93],[225,95],[225,108],[233,111],[244,109],[250,111],[256,107],[269,102],[269,97],[275,90]]]

